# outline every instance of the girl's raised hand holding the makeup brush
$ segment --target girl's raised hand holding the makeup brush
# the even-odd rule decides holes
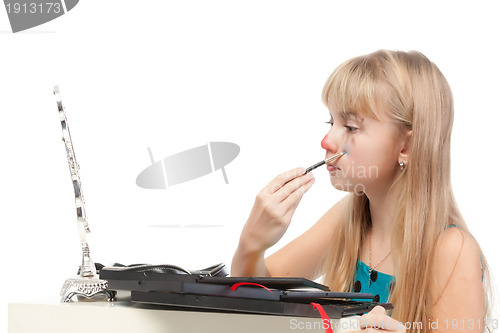
[[[284,172],[257,194],[240,238],[246,251],[263,253],[281,239],[302,196],[314,183],[312,173],[304,172],[304,168]]]

